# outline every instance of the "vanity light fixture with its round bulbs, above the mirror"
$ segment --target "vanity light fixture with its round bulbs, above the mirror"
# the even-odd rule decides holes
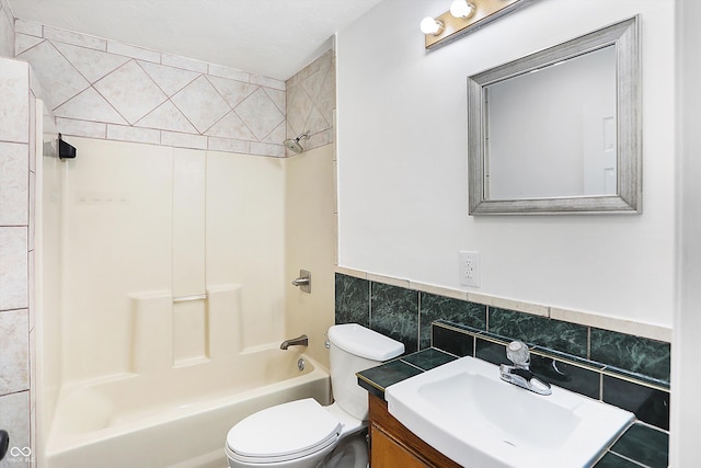
[[[437,47],[524,7],[530,0],[453,0],[438,18],[424,18],[426,48]]]

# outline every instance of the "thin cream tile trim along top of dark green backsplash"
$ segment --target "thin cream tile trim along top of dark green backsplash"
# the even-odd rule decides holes
[[[425,283],[412,282],[411,279],[395,278],[392,276],[379,275],[376,273],[364,272],[360,270],[348,269],[345,266],[336,266],[336,273],[346,276],[353,276],[360,279],[368,279],[377,283],[389,284],[393,286],[406,287],[409,289],[422,293],[435,294],[438,296],[451,297],[453,299],[469,300],[471,303],[483,304],[485,306],[498,307],[519,312],[530,313],[540,317],[547,317],[553,320],[565,321],[570,323],[582,324],[586,327],[595,327],[609,331],[633,334],[636,336],[648,338],[652,340],[671,342],[671,329],[667,327],[655,326],[652,323],[641,323],[631,320],[619,319],[616,317],[606,317],[597,313],[570,310],[555,306],[547,306],[542,304],[532,304],[521,300],[508,299],[498,296],[490,296],[484,294],[470,293],[461,289],[452,289],[444,286],[435,286]]]

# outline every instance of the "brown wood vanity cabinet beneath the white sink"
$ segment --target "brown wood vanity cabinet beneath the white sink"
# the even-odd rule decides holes
[[[369,406],[371,468],[460,467],[392,416],[383,399],[369,393]]]

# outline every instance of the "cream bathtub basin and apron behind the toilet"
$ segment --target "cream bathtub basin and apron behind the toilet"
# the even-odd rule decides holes
[[[303,358],[303,370],[298,359]],[[47,468],[225,468],[229,429],[273,404],[327,404],[329,373],[277,346],[157,374],[65,386],[46,444]]]

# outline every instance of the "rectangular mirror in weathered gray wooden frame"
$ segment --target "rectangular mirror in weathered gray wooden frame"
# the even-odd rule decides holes
[[[470,215],[641,213],[637,24],[468,78]]]

